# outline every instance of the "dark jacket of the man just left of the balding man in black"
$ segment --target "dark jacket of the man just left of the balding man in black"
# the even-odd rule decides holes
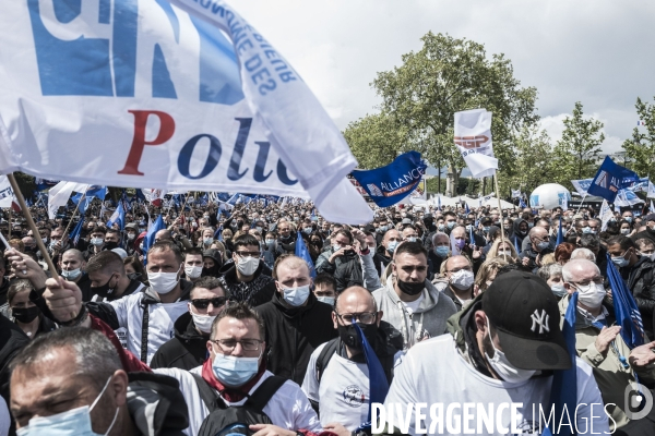
[[[263,274],[264,268],[267,268],[266,265],[263,261],[260,261],[252,280],[248,282],[238,281],[236,265],[228,263],[221,268],[218,280],[229,292],[231,301],[248,302],[252,307],[255,307],[270,302],[276,289],[275,280]]]

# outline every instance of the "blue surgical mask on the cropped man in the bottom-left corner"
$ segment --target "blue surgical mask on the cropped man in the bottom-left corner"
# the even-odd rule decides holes
[[[111,377],[107,379],[105,387],[96,397],[95,401],[88,405],[67,410],[66,412],[57,413],[50,416],[37,416],[29,420],[26,427],[16,431],[17,436],[99,436],[91,426],[91,411],[97,404],[107,386],[109,386]],[[105,435],[108,435],[118,417],[118,408],[114,414],[114,421],[107,428]]]

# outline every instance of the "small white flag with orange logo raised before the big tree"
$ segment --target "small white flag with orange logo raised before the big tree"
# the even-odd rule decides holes
[[[491,112],[485,109],[455,112],[455,145],[475,178],[495,175],[498,159],[491,142]]]

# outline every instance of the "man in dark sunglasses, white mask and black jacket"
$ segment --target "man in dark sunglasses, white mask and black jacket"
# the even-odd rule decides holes
[[[155,353],[152,368],[177,367],[190,371],[207,359],[207,340],[212,324],[225,308],[228,295],[215,277],[203,277],[195,282],[188,302],[189,312],[175,322],[175,338]]]

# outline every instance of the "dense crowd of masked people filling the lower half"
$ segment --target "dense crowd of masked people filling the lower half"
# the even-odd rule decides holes
[[[76,243],[70,211],[33,207],[38,234],[4,215],[0,434],[364,435],[373,401],[522,403],[473,433],[541,434],[572,367],[577,434],[655,434],[655,412],[633,420],[624,399],[655,387],[655,214],[463,206],[347,226],[302,202],[143,204],[121,229],[94,205]],[[644,346],[620,335],[608,262]],[[577,359],[561,328],[575,293]],[[414,412],[381,433],[465,433],[465,413]]]

